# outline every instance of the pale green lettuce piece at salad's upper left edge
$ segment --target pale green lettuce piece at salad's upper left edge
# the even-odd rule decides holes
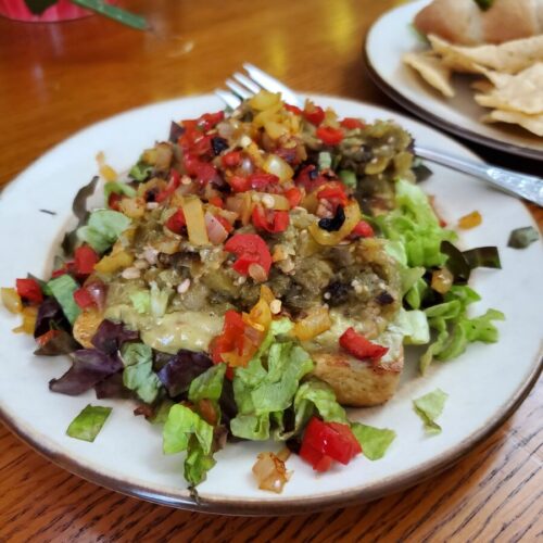
[[[86,226],[77,229],[77,238],[98,253],[104,253],[131,224],[123,213],[98,210],[90,214]]]

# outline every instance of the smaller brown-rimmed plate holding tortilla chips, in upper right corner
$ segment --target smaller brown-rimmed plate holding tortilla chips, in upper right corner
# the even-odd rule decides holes
[[[411,24],[429,0],[419,0],[389,11],[370,28],[366,39],[366,64],[375,83],[393,100],[425,121],[487,147],[532,159],[543,159],[543,138],[507,124],[484,124],[490,110],[473,99],[473,77],[455,75],[456,97],[445,98],[430,87],[402,56],[426,47]]]

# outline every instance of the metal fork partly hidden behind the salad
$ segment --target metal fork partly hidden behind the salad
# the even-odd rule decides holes
[[[243,68],[244,74],[236,72],[231,79],[225,81],[229,90],[215,90],[215,94],[228,106],[237,108],[243,100],[251,98],[262,89],[280,92],[285,101],[293,105],[302,105],[300,97],[275,77],[249,63],[244,63]],[[518,174],[500,166],[470,161],[419,144],[415,144],[415,153],[421,159],[477,177],[508,193],[519,195],[543,206],[543,179],[539,177]]]

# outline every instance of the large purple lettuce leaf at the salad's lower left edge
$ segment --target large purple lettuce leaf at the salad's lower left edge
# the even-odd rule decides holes
[[[61,378],[49,381],[49,389],[52,392],[76,396],[123,367],[123,362],[116,353],[105,354],[96,349],[81,349],[74,353],[72,367]]]

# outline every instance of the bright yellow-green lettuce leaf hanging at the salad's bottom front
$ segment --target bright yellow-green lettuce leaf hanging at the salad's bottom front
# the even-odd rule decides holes
[[[211,453],[213,426],[185,405],[173,405],[162,432],[164,454],[187,451],[191,435],[195,435],[203,454]]]

